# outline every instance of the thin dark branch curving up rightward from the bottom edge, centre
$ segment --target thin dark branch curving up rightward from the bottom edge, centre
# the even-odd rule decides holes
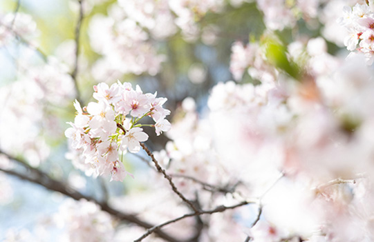
[[[140,241],[142,241],[142,239],[145,239],[147,236],[149,236],[149,234],[151,234],[152,232],[160,230],[160,228],[164,227],[165,225],[168,225],[170,223],[176,223],[177,221],[180,221],[182,219],[186,219],[190,216],[198,216],[198,215],[202,215],[202,214],[215,214],[217,212],[224,212],[225,210],[232,210],[234,208],[239,208],[243,205],[247,205],[247,204],[250,204],[250,203],[256,203],[256,201],[242,201],[241,203],[237,203],[236,205],[232,205],[232,206],[221,205],[221,206],[218,206],[218,207],[216,207],[212,210],[200,210],[198,212],[194,212],[194,213],[191,213],[191,214],[185,214],[185,215],[180,216],[176,219],[166,221],[165,223],[161,223],[160,225],[157,225],[157,226],[154,226],[153,228],[150,228],[149,230],[147,230],[147,232],[145,234],[143,234],[139,239],[136,239],[134,242],[140,242]]]

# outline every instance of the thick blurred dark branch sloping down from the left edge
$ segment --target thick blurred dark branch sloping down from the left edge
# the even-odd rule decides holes
[[[91,196],[85,196],[84,194],[82,194],[80,192],[77,192],[73,188],[69,187],[67,184],[62,183],[61,181],[57,181],[57,180],[49,177],[48,174],[42,172],[41,170],[38,170],[36,168],[32,168],[30,165],[28,165],[25,161],[22,161],[21,159],[17,159],[15,157],[12,157],[12,156],[6,154],[6,152],[2,152],[1,150],[0,150],[0,153],[6,155],[6,157],[8,157],[8,159],[11,159],[11,160],[16,161],[17,163],[20,163],[21,165],[23,165],[25,168],[32,171],[33,175],[28,176],[28,175],[22,174],[20,172],[15,172],[14,170],[6,170],[6,169],[3,169],[3,168],[0,168],[0,171],[2,171],[2,172],[6,172],[7,174],[18,177],[19,179],[30,181],[31,183],[42,185],[42,186],[44,186],[44,188],[47,188],[48,190],[52,190],[52,191],[55,191],[55,192],[60,192],[64,195],[66,195],[66,196],[70,196],[72,199],[75,199],[77,201],[79,201],[80,199],[86,199],[87,201],[93,201],[94,203],[97,203],[97,205],[100,205],[100,207],[102,208],[103,211],[108,212],[109,214],[111,214],[111,215],[115,216],[116,218],[120,219],[121,221],[127,221],[129,223],[134,223],[135,225],[138,225],[138,226],[140,226],[142,228],[146,228],[146,229],[155,227],[151,223],[148,223],[146,221],[142,221],[142,220],[138,219],[138,217],[135,216],[135,214],[128,214],[128,213],[120,212],[118,210],[115,210],[114,208],[111,208],[111,206],[108,205],[106,202],[97,201],[96,199],[94,199]],[[180,242],[181,241],[180,239],[176,239],[173,236],[171,236],[171,235],[169,235],[165,232],[162,232],[160,230],[156,230],[154,232],[155,232],[155,234],[157,234],[157,236],[159,236],[162,239],[165,239],[166,241],[170,241],[170,242]]]

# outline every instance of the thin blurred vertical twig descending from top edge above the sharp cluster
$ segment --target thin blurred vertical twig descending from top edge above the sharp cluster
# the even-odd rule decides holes
[[[75,92],[77,92],[77,100],[81,102],[80,100],[80,89],[78,88],[77,83],[77,74],[78,74],[78,58],[80,55],[80,30],[82,27],[82,21],[83,21],[83,0],[77,0],[80,5],[79,10],[79,17],[77,21],[77,26],[75,26],[75,59],[74,59],[74,68],[73,72],[71,72],[71,78],[73,79],[74,86],[75,86]]]

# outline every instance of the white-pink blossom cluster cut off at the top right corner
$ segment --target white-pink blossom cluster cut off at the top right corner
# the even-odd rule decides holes
[[[371,65],[374,61],[374,12],[371,6],[359,3],[353,8],[345,6],[339,23],[348,32],[344,38],[346,48],[364,53],[368,65]]]

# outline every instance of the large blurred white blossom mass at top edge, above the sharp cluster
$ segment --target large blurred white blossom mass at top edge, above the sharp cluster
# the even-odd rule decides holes
[[[180,29],[187,41],[200,35],[198,21],[207,12],[219,12],[224,1],[204,0],[120,0],[113,3],[108,16],[95,14],[88,34],[95,52],[102,54],[93,68],[97,80],[120,78],[122,74],[156,75],[165,61],[155,41],[165,40]],[[206,26],[202,39],[214,42],[216,29]]]

